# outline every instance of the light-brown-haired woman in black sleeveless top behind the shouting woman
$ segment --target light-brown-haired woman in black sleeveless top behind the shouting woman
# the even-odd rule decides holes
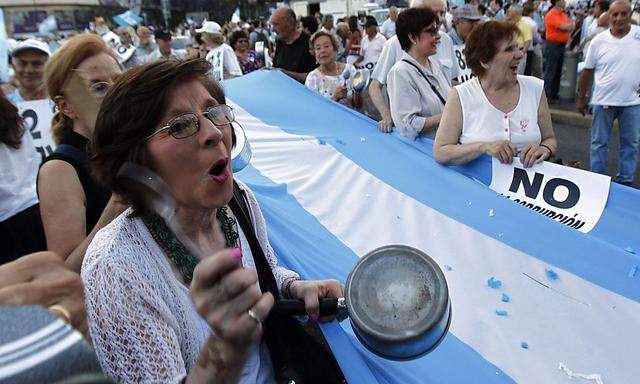
[[[103,226],[123,209],[90,175],[87,150],[100,102],[120,73],[111,49],[91,34],[69,39],[45,68],[47,91],[58,109],[51,126],[58,147],[38,174],[40,213],[47,249],[67,259],[76,271],[82,263],[83,240],[98,222]]]

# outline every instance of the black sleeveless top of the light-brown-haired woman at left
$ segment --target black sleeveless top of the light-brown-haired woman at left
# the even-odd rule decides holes
[[[68,131],[64,133],[59,144],[68,144],[81,150],[84,153],[87,153],[87,161],[81,162],[72,158],[71,156],[59,152],[54,152],[46,159],[44,159],[44,162],[42,164],[51,160],[62,160],[66,163],[69,163],[73,167],[73,169],[75,169],[86,199],[86,231],[87,234],[89,234],[89,232],[91,232],[93,227],[98,222],[98,219],[100,219],[100,215],[102,215],[104,207],[109,202],[111,191],[98,184],[98,182],[95,181],[89,173],[89,156],[87,152],[87,145],[89,144],[89,140],[86,137],[75,131]]]

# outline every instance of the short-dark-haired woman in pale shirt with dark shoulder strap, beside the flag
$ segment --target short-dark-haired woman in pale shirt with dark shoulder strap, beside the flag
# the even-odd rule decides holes
[[[405,52],[387,75],[391,118],[398,134],[415,140],[433,135],[451,85],[433,55],[440,35],[438,15],[429,8],[409,8],[396,20],[396,36]]]

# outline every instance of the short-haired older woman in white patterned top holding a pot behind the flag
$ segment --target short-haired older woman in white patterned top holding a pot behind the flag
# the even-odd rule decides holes
[[[360,108],[362,98],[357,92],[347,91],[345,72],[348,77],[355,75],[356,68],[352,64],[336,61],[338,42],[333,33],[320,30],[309,39],[311,54],[315,56],[318,68],[309,72],[304,85],[312,91],[337,101],[351,108]]]

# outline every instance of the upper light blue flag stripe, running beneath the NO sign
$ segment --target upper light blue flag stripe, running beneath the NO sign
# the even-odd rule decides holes
[[[617,241],[628,244],[615,244],[598,230],[582,234],[495,194],[482,183],[488,183],[486,171],[481,172],[486,160],[463,168],[482,182],[472,181],[425,156],[428,148],[380,133],[372,120],[308,91],[283,74],[254,72],[226,82],[225,88],[234,102],[265,123],[291,134],[322,138],[421,203],[550,265],[640,301],[640,279],[627,278],[630,268],[640,264],[640,256],[623,249],[631,247],[640,253],[640,194],[636,191],[612,186],[612,201],[598,227],[623,233]],[[495,212],[491,218],[490,209]]]

